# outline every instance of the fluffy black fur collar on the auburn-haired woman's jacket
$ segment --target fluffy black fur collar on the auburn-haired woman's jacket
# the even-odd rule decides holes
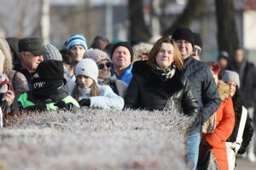
[[[172,78],[164,81],[160,76],[156,75],[152,68],[147,64],[148,61],[137,61],[133,64],[132,74],[138,74],[146,79],[146,83],[156,89],[156,91],[164,91],[168,95],[183,88],[183,71],[176,69]]]

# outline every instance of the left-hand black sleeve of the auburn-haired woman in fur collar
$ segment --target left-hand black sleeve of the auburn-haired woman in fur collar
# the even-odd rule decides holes
[[[139,100],[138,93],[137,74],[134,74],[125,94],[125,108],[137,109]]]

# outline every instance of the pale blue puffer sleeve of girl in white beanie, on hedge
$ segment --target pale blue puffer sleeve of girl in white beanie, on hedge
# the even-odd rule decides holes
[[[117,109],[124,108],[124,99],[113,93],[113,90],[108,86],[102,86],[103,95],[90,97],[90,107],[101,109]]]

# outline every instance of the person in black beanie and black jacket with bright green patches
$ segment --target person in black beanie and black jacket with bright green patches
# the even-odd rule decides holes
[[[43,61],[36,71],[32,90],[20,95],[18,99],[20,111],[69,111],[73,107],[79,107],[78,102],[68,95],[61,61]]]

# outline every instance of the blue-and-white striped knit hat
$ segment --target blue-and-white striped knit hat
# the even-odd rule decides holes
[[[82,34],[73,34],[71,37],[67,39],[67,48],[70,49],[75,45],[80,45],[84,49],[88,49],[86,44],[86,39]]]

